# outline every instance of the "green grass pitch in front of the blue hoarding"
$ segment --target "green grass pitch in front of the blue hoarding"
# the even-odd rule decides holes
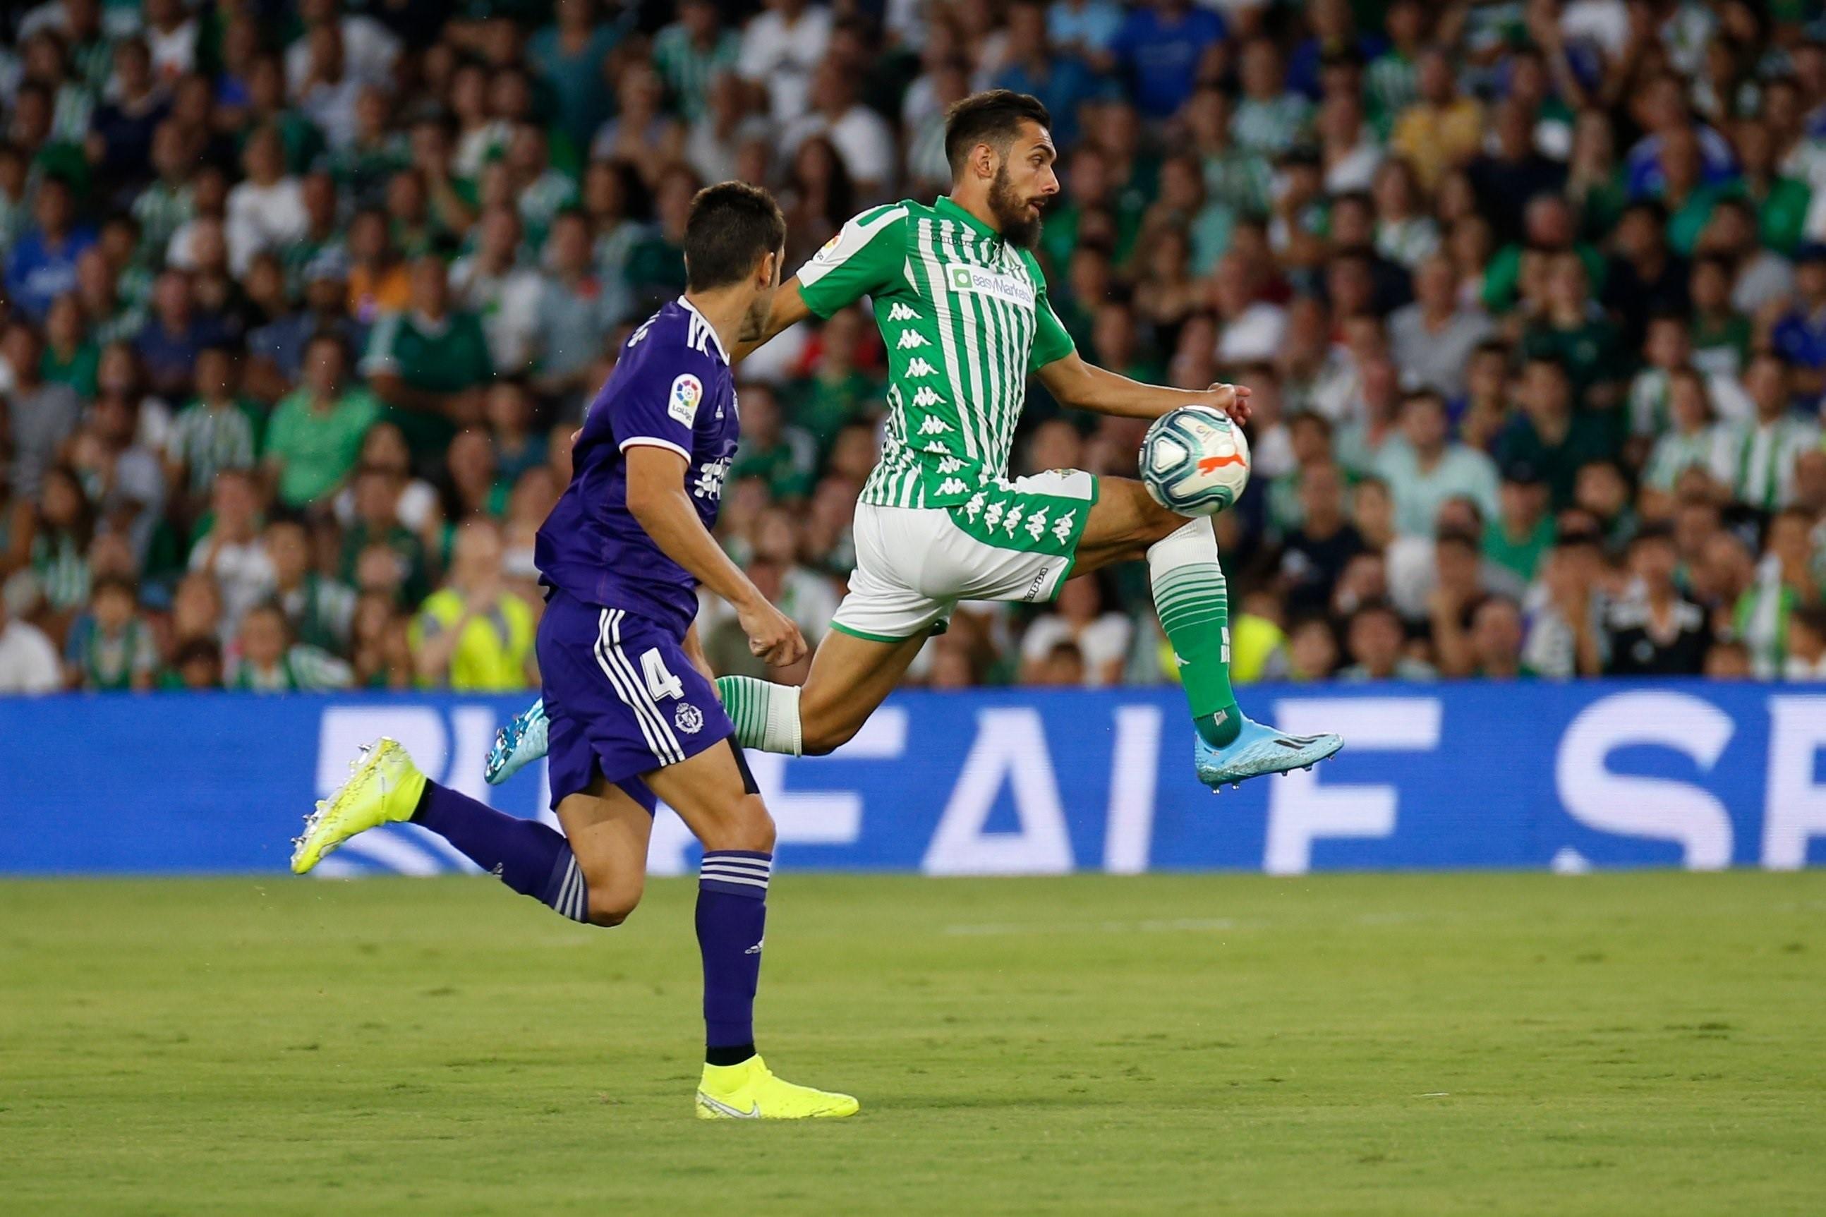
[[[687,879],[0,883],[5,1213],[1819,1213],[1826,874],[776,881],[705,1124]]]

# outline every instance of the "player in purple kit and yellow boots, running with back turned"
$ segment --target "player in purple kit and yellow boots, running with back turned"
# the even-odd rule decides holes
[[[703,843],[699,1118],[858,1109],[849,1095],[776,1078],[754,1051],[774,825],[692,626],[703,584],[736,608],[769,664],[805,653],[798,628],[710,536],[740,432],[729,350],[761,334],[783,252],[785,221],[765,190],[723,182],[698,193],[685,296],[628,338],[584,416],[572,482],[539,529],[539,668],[562,836],[429,781],[405,748],[380,739],[318,805],[292,854],[305,874],[351,836],[411,819],[562,916],[619,925],[641,900],[665,799]]]

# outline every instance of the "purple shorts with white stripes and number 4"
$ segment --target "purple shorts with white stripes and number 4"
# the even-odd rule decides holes
[[[657,799],[641,774],[736,733],[677,633],[561,589],[539,620],[539,673],[551,723],[551,806],[603,774],[652,812]]]

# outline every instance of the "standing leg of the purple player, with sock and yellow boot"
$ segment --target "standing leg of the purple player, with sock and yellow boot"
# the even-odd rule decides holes
[[[698,949],[703,954],[705,1066],[698,1117],[809,1118],[856,1113],[849,1095],[782,1082],[754,1051],[774,821],[730,741],[645,775],[703,843]],[[614,843],[612,843],[614,845]]]

